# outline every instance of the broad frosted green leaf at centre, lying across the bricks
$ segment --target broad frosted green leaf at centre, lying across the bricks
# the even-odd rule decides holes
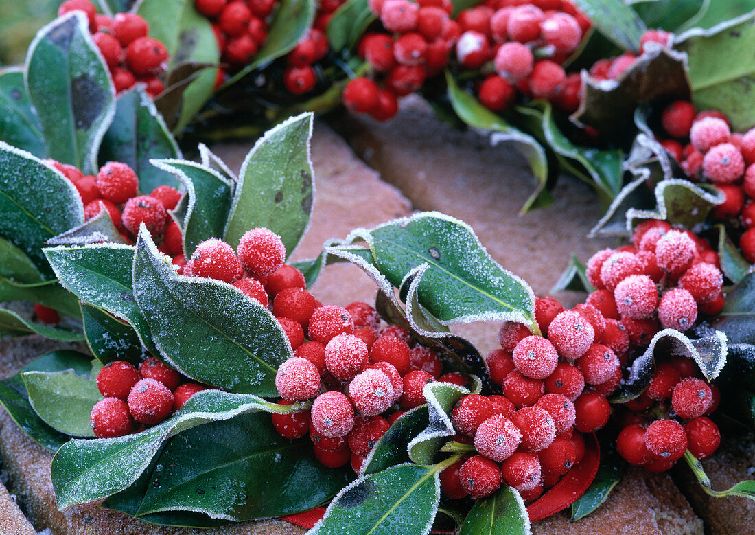
[[[393,286],[427,264],[420,304],[441,323],[520,321],[538,332],[535,295],[524,280],[488,255],[471,227],[438,212],[421,212],[368,231],[374,262]]]

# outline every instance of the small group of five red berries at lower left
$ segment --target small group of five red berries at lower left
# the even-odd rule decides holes
[[[149,357],[138,370],[124,360],[107,363],[97,374],[97,388],[104,399],[92,407],[89,421],[94,436],[114,438],[159,424],[207,387],[182,383],[176,370]]]

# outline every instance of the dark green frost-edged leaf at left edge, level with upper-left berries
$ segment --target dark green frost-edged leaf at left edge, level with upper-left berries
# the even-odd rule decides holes
[[[76,188],[41,159],[0,141],[0,235],[45,274],[45,242],[84,221]]]

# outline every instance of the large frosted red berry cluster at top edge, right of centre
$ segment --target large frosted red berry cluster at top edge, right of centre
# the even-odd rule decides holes
[[[384,31],[368,32],[359,55],[370,78],[344,89],[344,104],[375,119],[390,119],[396,97],[419,91],[451,62],[482,73],[476,91],[486,107],[503,111],[517,94],[552,101],[567,111],[579,105],[581,79],[567,76],[561,63],[575,51],[590,20],[569,0],[487,0],[451,18],[448,0],[370,0]],[[384,88],[375,79],[381,77]]]

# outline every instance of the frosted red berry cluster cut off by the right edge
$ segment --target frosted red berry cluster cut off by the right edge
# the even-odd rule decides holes
[[[713,209],[713,217],[742,231],[739,249],[755,263],[755,128],[732,133],[724,113],[698,113],[689,101],[669,104],[661,123],[670,136],[661,145],[689,178],[710,182],[723,193],[726,199]]]

